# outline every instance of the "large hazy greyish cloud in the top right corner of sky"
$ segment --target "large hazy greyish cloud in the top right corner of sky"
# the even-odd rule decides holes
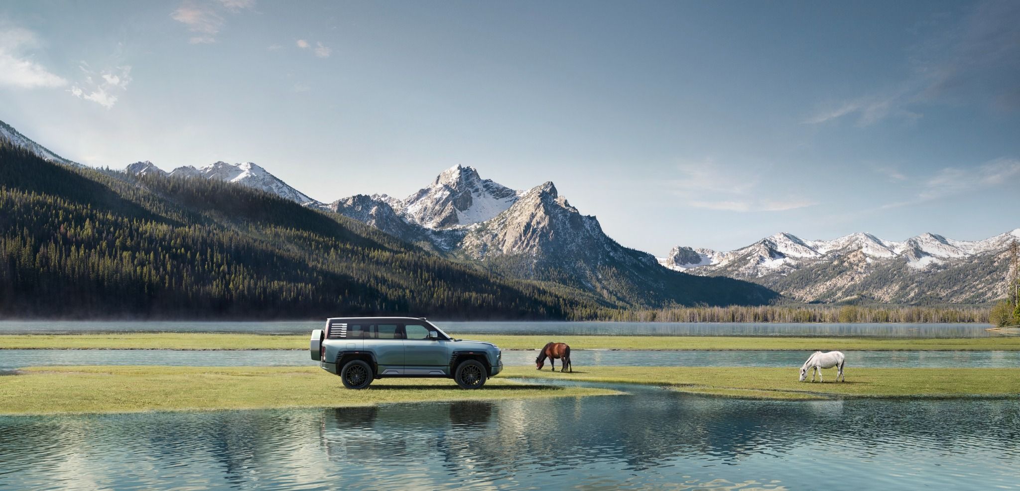
[[[917,119],[930,104],[978,104],[996,110],[1020,108],[1020,2],[987,1],[963,19],[936,30],[911,48],[913,75],[897,87],[830,104],[806,125],[855,118],[867,127],[886,118]]]

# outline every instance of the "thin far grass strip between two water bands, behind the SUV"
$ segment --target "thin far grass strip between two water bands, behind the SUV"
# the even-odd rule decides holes
[[[538,349],[560,341],[572,349],[691,350],[1020,350],[1020,337],[974,339],[796,338],[733,336],[464,335],[503,349]],[[308,349],[308,335],[124,333],[0,335],[0,349]]]

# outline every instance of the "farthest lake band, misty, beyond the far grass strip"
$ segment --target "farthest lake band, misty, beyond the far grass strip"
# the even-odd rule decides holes
[[[986,324],[792,324],[792,323],[572,323],[443,322],[451,334],[536,334],[609,336],[868,336],[892,338],[982,338]],[[0,334],[106,332],[296,334],[322,329],[310,322],[144,322],[144,321],[0,321]]]

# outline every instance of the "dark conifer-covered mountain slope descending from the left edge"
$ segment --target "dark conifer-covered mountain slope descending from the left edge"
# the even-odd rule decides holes
[[[3,316],[566,318],[600,306],[265,192],[73,168],[0,142]]]

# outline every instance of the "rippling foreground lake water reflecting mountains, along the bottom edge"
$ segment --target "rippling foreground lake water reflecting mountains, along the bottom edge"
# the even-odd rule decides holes
[[[0,489],[1017,489],[1020,401],[628,395],[0,418]]]

